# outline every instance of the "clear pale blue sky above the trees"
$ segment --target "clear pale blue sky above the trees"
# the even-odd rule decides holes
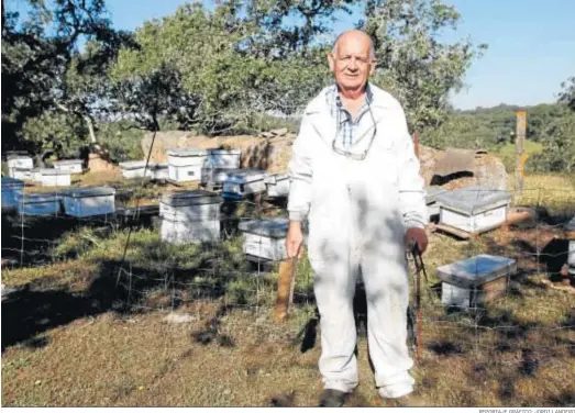
[[[19,0],[9,0],[9,2]],[[575,76],[575,0],[444,0],[462,14],[455,33],[487,43],[483,58],[465,76],[467,88],[452,98],[460,109],[499,103],[553,102],[560,83]],[[113,25],[134,30],[176,11],[184,0],[108,0]],[[206,1],[212,3],[212,1]],[[353,27],[357,15],[342,15],[335,32]]]

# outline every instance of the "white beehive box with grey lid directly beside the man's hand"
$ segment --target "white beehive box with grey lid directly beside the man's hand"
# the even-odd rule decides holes
[[[286,236],[289,220],[285,216],[243,221],[237,228],[243,233],[243,253],[251,258],[283,260],[287,258]]]

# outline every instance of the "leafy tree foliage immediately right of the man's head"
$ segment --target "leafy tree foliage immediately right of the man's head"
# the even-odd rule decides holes
[[[450,91],[458,91],[473,59],[486,45],[471,40],[442,43],[456,29],[454,7],[440,0],[369,0],[362,27],[375,40],[377,85],[403,104],[413,131],[438,127],[446,119]]]

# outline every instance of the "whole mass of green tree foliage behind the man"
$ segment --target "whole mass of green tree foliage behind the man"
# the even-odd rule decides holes
[[[375,40],[374,82],[399,98],[413,129],[445,120],[449,92],[483,49],[468,40],[440,42],[460,20],[440,0],[226,0],[210,10],[196,2],[134,33],[110,29],[103,0],[29,1],[25,24],[3,14],[2,79],[5,72],[15,86],[2,97],[2,126],[13,136],[2,146],[49,147],[47,134],[25,139],[24,124],[48,114],[56,118],[49,123],[64,123],[66,114],[85,123],[79,141],[106,144],[118,160],[139,150],[130,134],[110,138],[118,135],[111,119],[145,130],[167,121],[209,135],[292,125],[266,116],[297,115],[332,81],[330,26],[351,7],[365,5],[358,26]]]

